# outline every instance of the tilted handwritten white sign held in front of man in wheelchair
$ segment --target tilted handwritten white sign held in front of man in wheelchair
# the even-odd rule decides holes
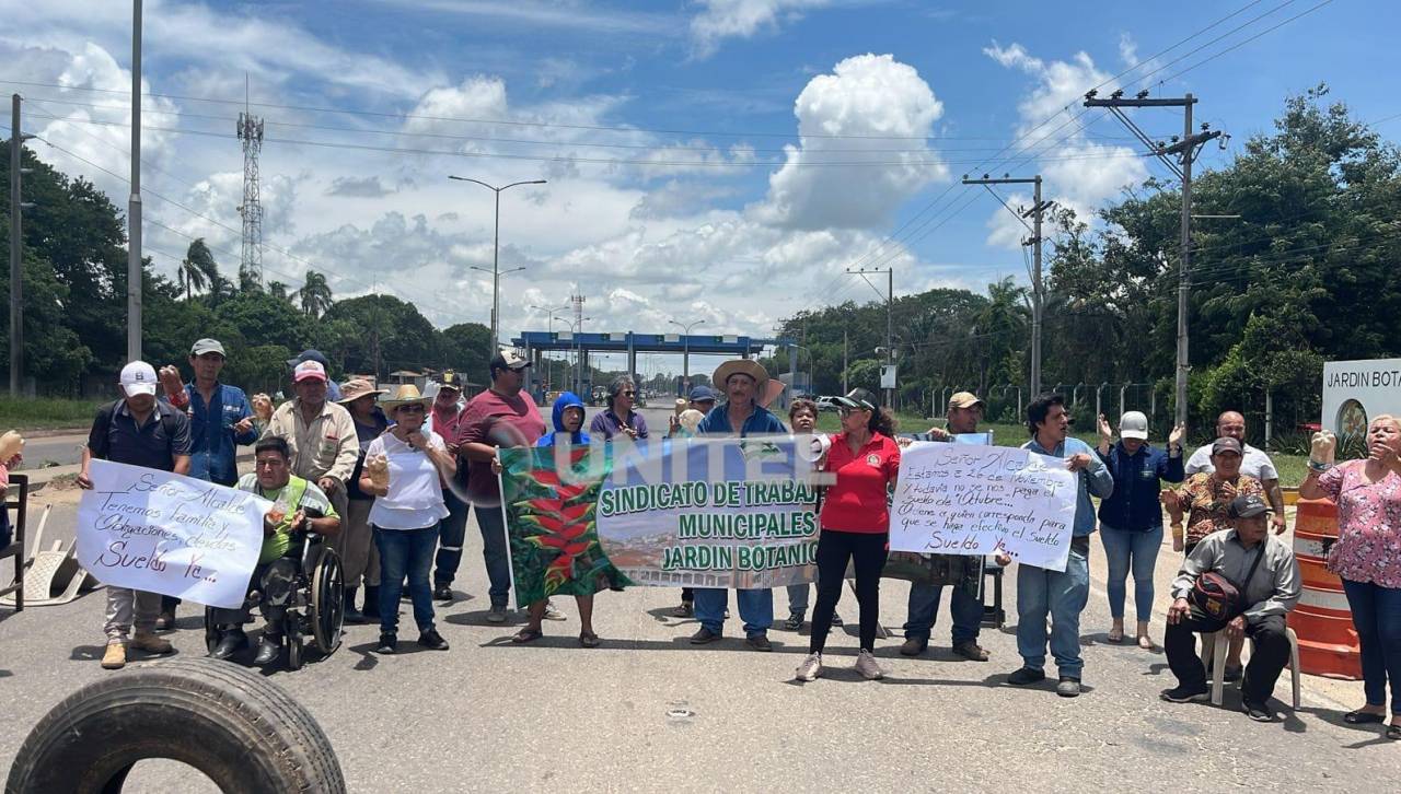
[[[112,587],[237,608],[262,548],[266,499],[170,472],[92,461],[78,562]]]

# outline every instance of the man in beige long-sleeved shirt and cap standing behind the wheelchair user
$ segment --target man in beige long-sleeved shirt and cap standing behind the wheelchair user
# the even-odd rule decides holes
[[[268,420],[263,438],[277,436],[291,447],[291,473],[317,483],[338,515],[346,514],[346,480],[360,458],[354,419],[343,405],[326,399],[326,368],[307,360],[291,371],[296,399]]]

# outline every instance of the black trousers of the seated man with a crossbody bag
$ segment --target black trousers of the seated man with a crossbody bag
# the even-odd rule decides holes
[[[1167,653],[1167,664],[1180,685],[1189,689],[1206,688],[1206,668],[1196,655],[1196,634],[1224,627],[1226,620],[1212,618],[1195,606],[1180,623],[1168,623],[1163,637],[1163,651]],[[1250,664],[1245,665],[1241,697],[1247,703],[1264,706],[1289,661],[1289,637],[1285,634],[1283,615],[1247,620],[1245,636],[1254,643],[1254,650],[1250,654]],[[1217,671],[1217,675],[1220,674],[1222,671]]]

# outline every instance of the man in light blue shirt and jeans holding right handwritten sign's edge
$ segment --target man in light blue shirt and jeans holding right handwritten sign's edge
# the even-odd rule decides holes
[[[1091,496],[1108,499],[1114,478],[1089,444],[1070,436],[1070,417],[1065,398],[1044,393],[1027,406],[1027,430],[1031,440],[1021,445],[1041,455],[1065,458],[1076,472],[1079,489],[1075,528],[1065,570],[1017,566],[1017,653],[1023,667],[1007,676],[1007,683],[1024,686],[1045,679],[1047,613],[1051,615],[1051,655],[1061,681],[1055,688],[1062,697],[1080,695],[1080,612],[1090,601],[1090,535],[1094,532]]]

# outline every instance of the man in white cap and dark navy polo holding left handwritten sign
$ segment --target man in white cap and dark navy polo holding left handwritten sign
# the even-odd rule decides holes
[[[83,448],[78,487],[92,487],[92,459],[146,466],[177,475],[189,473],[189,419],[170,403],[156,399],[156,368],[146,361],[132,361],[122,368],[122,399],[105,405],[92,420],[88,443]],[[102,667],[126,665],[127,646],[153,654],[171,653],[171,644],[156,636],[156,616],[161,608],[158,592],[126,587],[106,588],[106,651]],[[136,634],[127,640],[127,633]]]

